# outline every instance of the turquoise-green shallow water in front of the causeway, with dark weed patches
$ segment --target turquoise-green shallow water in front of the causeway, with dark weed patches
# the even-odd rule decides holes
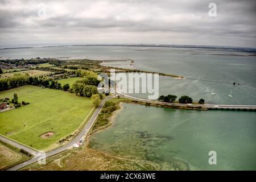
[[[90,137],[90,147],[152,162],[158,169],[255,170],[255,118],[250,111],[123,104],[114,125]],[[209,165],[209,151],[217,152],[217,165]],[[181,162],[188,168],[180,167]]]

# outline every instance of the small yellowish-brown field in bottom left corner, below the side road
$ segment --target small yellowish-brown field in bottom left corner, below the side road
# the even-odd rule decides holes
[[[28,159],[30,158],[20,153],[18,148],[0,142],[0,171]]]

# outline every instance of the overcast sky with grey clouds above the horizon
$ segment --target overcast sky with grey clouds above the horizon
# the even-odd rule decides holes
[[[217,5],[216,17],[208,14],[211,2]],[[0,44],[164,43],[256,47],[255,17],[254,0],[0,0]]]

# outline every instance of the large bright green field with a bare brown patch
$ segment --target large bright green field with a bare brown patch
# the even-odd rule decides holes
[[[0,98],[13,98],[14,93],[19,102],[30,104],[0,113],[0,134],[36,149],[48,148],[72,134],[93,109],[90,98],[31,85],[0,92]],[[40,137],[49,131],[55,134]]]

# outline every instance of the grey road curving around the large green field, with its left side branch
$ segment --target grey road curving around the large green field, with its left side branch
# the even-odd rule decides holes
[[[48,158],[49,156],[52,156],[52,155],[59,154],[60,152],[68,150],[69,148],[72,148],[73,144],[79,142],[79,140],[81,138],[85,137],[88,134],[88,132],[90,131],[90,129],[92,128],[92,126],[94,125],[94,122],[96,121],[96,119],[98,117],[98,114],[100,114],[100,111],[101,111],[102,107],[104,106],[105,102],[110,100],[111,98],[114,98],[114,97],[115,96],[109,96],[109,97],[106,97],[104,100],[102,100],[100,106],[98,106],[98,108],[94,111],[92,117],[90,117],[89,121],[85,124],[84,128],[80,131],[80,133],[78,135],[76,135],[76,137],[73,138],[71,140],[71,142],[69,142],[65,146],[62,146],[62,147],[59,147],[59,148],[56,148],[54,150],[46,152],[46,158]],[[28,151],[28,152],[32,152],[31,154],[34,154],[34,158],[32,158],[30,160],[27,160],[26,162],[20,163],[20,164],[14,166],[14,167],[11,167],[11,168],[7,169],[7,171],[16,171],[18,169],[26,167],[29,164],[38,162],[38,160],[40,160],[40,155],[38,153],[39,151],[32,150],[29,147],[26,147],[26,146],[24,146],[22,144],[14,142],[13,140],[7,139],[5,137],[1,137],[0,136],[0,139],[1,140],[3,139],[4,142],[9,143],[9,144],[11,144],[11,145],[13,145],[15,147],[23,148],[23,150]]]

